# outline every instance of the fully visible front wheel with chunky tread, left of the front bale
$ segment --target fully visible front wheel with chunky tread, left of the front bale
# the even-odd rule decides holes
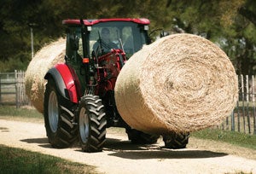
[[[106,113],[99,96],[83,96],[77,111],[79,139],[82,150],[101,152],[106,142]]]

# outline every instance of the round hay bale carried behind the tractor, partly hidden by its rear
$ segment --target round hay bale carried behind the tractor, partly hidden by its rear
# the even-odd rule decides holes
[[[40,49],[26,69],[26,95],[38,112],[44,111],[44,76],[56,63],[64,62],[66,41],[63,38]]]

